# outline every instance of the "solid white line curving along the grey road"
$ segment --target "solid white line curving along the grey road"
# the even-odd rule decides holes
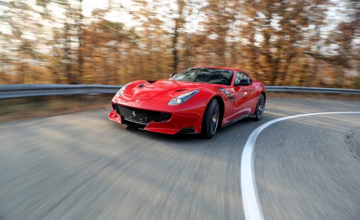
[[[288,117],[281,117],[279,119],[273,119],[262,126],[258,127],[250,134],[248,141],[246,141],[245,147],[243,148],[243,154],[241,156],[241,168],[240,168],[240,182],[241,182],[241,195],[243,198],[243,210],[245,212],[246,220],[262,220],[262,210],[257,198],[257,190],[255,184],[255,173],[253,170],[253,152],[254,145],[257,136],[260,132],[266,129],[271,124],[280,122],[287,119],[293,119],[295,117],[306,117],[312,115],[331,115],[331,114],[360,114],[360,112],[321,112],[321,113],[310,113],[304,115],[292,115]]]

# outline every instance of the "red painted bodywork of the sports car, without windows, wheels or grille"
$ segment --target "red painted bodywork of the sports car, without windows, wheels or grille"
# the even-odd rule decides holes
[[[117,113],[119,111],[116,106],[122,105],[131,108],[127,113],[130,114],[130,119],[132,118],[131,114],[133,114],[135,119],[135,115],[137,115],[135,114],[136,110],[163,112],[165,116],[171,114],[170,119],[165,120],[165,122],[147,121],[147,117],[140,119],[142,120],[141,122],[147,121],[143,124],[141,123],[142,129],[146,131],[175,134],[190,129],[192,133],[202,133],[204,112],[211,99],[218,98],[220,105],[218,124],[225,126],[243,117],[253,116],[260,94],[266,96],[265,87],[262,82],[255,81],[252,78],[250,78],[250,81],[252,81],[250,85],[234,86],[237,73],[244,73],[243,71],[234,68],[220,67],[197,68],[233,71],[231,83],[230,85],[219,85],[172,79],[149,82],[138,80],[130,82],[123,91],[123,94],[120,96],[115,95],[114,98],[112,98],[113,110],[110,112],[109,118],[114,122],[128,124],[128,120],[126,120],[126,123],[122,122],[123,119],[121,119],[121,115]],[[200,91],[185,103],[168,105],[172,98],[196,89]]]

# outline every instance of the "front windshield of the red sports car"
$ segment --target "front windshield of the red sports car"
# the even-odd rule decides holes
[[[188,68],[171,80],[206,82],[211,84],[230,85],[234,71],[228,71],[220,68]]]

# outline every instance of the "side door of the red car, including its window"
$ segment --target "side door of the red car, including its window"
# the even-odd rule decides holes
[[[252,112],[251,101],[254,96],[253,92],[255,91],[252,82],[253,81],[246,73],[236,73],[234,86],[232,87],[232,91],[234,91],[234,94],[232,95],[234,98],[234,119]]]

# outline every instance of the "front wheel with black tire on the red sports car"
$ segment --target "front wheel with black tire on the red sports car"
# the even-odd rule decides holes
[[[204,117],[202,118],[202,136],[203,138],[212,138],[218,129],[220,117],[220,106],[218,100],[213,98],[207,109],[205,110]]]

